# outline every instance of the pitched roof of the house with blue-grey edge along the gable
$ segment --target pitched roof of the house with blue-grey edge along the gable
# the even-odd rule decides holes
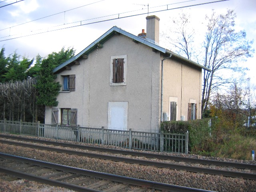
[[[82,50],[80,53],[78,53],[76,56],[74,56],[73,58],[71,58],[70,60],[64,62],[63,64],[59,65],[58,67],[56,67],[53,72],[56,73],[62,69],[64,69],[66,66],[70,66],[72,64],[75,64],[76,61],[78,61],[80,58],[90,54],[90,52],[94,51],[99,44],[104,44],[104,42],[106,42],[108,39],[112,38],[112,36],[116,35],[116,34],[123,34],[127,37],[132,38],[135,42],[140,42],[142,44],[145,44],[147,46],[150,46],[152,49],[157,50],[162,52],[163,54],[168,54],[168,55],[172,55],[173,57],[176,57],[180,60],[184,60],[190,64],[192,64],[193,66],[197,66],[199,68],[203,68],[205,70],[210,71],[209,68],[206,68],[196,62],[193,62],[189,59],[186,59],[178,54],[175,54],[174,52],[171,52],[170,50],[167,50],[165,48],[160,47],[159,45],[150,42],[150,40],[148,39],[144,39],[144,38],[140,38],[136,35],[133,35],[131,33],[126,32],[125,30],[122,30],[121,28],[118,28],[116,26],[112,27],[110,30],[108,30],[106,33],[104,33],[102,36],[100,36],[96,41],[92,42],[88,47],[86,47],[84,50]]]

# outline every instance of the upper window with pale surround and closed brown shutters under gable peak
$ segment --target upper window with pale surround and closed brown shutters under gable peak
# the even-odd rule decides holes
[[[126,85],[127,56],[112,56],[110,60],[110,86]]]

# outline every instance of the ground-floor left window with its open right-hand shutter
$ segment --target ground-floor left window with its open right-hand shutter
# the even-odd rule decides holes
[[[76,124],[77,124],[77,109],[62,108],[61,109],[61,124],[76,126]]]

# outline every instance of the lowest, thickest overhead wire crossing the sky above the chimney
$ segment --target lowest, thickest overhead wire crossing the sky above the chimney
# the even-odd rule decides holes
[[[181,6],[181,7],[177,7],[177,8],[168,8],[168,5],[170,5],[170,4],[168,4],[168,5],[165,5],[165,6],[167,6],[167,9],[152,11],[152,12],[146,12],[146,13],[141,13],[141,14],[134,14],[134,15],[130,15],[130,16],[123,16],[123,17],[120,17],[120,14],[113,14],[113,15],[118,15],[118,17],[117,18],[112,18],[112,19],[107,19],[107,20],[96,21],[96,22],[90,22],[90,23],[86,23],[86,24],[82,24],[81,23],[82,21],[78,21],[78,22],[80,22],[79,25],[64,27],[64,28],[55,29],[55,30],[47,30],[47,31],[44,31],[44,32],[39,32],[39,33],[35,33],[35,34],[28,34],[28,35],[24,35],[24,36],[15,37],[15,38],[9,38],[9,39],[5,39],[5,40],[0,40],[0,42],[7,41],[7,40],[12,40],[12,39],[17,39],[17,38],[22,38],[22,37],[28,37],[28,36],[37,35],[37,34],[43,34],[43,33],[47,33],[47,32],[53,32],[53,31],[68,29],[68,28],[74,28],[74,27],[78,27],[78,26],[84,26],[84,25],[95,24],[95,23],[106,22],[106,21],[117,20],[117,19],[128,18],[128,17],[134,17],[134,16],[140,16],[140,15],[149,14],[149,13],[156,13],[156,12],[162,12],[162,11],[167,11],[167,10],[175,10],[175,9],[180,9],[180,8],[187,8],[187,7],[192,7],[192,6],[199,6],[199,5],[211,4],[211,3],[216,3],[216,2],[224,2],[224,1],[229,1],[229,0],[217,0],[217,1],[214,1],[214,2],[206,2],[206,3],[194,4],[194,5],[188,5],[188,6]],[[113,15],[109,15],[109,16],[113,16]],[[103,16],[103,17],[107,17],[107,16]],[[100,18],[102,18],[102,17],[100,17]],[[89,20],[92,20],[92,19],[89,19]],[[83,21],[85,21],[85,20],[83,20]],[[77,22],[73,22],[73,23],[77,23]],[[63,26],[63,25],[60,25],[60,26]]]

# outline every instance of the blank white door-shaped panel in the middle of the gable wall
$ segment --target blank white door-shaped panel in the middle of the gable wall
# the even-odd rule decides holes
[[[108,128],[127,130],[128,102],[108,102]]]

